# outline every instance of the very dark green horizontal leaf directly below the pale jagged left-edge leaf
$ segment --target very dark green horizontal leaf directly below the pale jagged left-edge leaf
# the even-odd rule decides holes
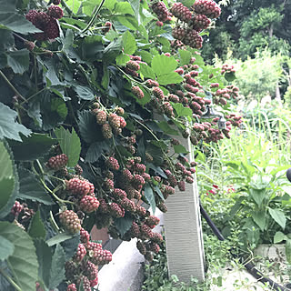
[[[11,141],[9,145],[17,161],[31,161],[47,154],[48,150],[56,143],[54,138],[43,134],[32,134],[23,137],[23,142]]]

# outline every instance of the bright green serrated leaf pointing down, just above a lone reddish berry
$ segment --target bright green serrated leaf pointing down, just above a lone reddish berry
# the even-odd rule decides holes
[[[81,142],[79,136],[72,129],[72,133],[64,127],[56,128],[55,135],[63,153],[68,157],[67,166],[75,166],[80,158]]]

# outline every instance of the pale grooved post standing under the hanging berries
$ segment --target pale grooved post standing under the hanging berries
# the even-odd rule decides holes
[[[190,139],[180,140],[190,153],[193,161]],[[201,230],[199,199],[196,176],[193,184],[186,183],[186,191],[176,190],[174,196],[166,199],[165,228],[166,254],[169,276],[176,275],[179,280],[189,282],[191,276],[205,279],[205,256]]]

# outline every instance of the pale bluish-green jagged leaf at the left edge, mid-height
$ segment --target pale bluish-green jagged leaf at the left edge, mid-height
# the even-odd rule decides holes
[[[9,138],[21,142],[19,133],[28,136],[31,130],[15,121],[17,112],[0,103],[0,139]]]

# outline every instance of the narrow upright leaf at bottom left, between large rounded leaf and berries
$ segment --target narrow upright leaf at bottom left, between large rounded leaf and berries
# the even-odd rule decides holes
[[[48,270],[52,265],[53,249],[47,246],[43,239],[35,239],[36,256],[38,261],[38,276],[45,283],[45,286],[49,284]]]

